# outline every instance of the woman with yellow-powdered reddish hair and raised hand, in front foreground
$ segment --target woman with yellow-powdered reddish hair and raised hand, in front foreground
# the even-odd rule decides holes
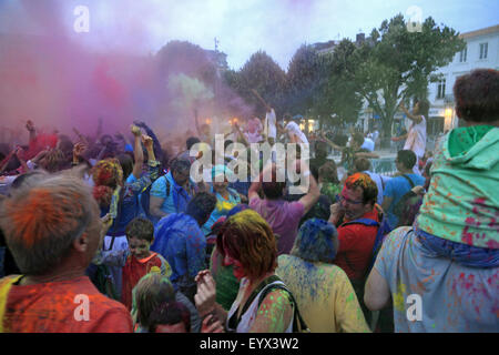
[[[240,292],[227,313],[215,302],[216,284],[210,271],[202,271],[195,295],[200,315],[215,315],[228,332],[292,332],[296,305],[275,275],[277,245],[265,220],[252,210],[234,214],[222,226],[216,248],[225,265],[233,265],[234,276],[241,280]]]

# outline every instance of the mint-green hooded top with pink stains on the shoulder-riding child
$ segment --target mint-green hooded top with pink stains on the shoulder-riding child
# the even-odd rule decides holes
[[[499,128],[450,131],[430,173],[418,227],[452,242],[499,248]]]

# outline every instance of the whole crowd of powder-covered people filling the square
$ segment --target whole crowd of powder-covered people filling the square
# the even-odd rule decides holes
[[[223,152],[197,115],[176,151],[140,121],[74,140],[28,121],[28,145],[1,146],[0,332],[498,332],[499,72],[454,92],[464,125],[432,153],[427,101],[400,104],[391,178],[378,132],[307,136],[256,91],[265,120],[232,122]],[[241,179],[236,142],[313,143],[288,153],[305,187],[273,154]]]

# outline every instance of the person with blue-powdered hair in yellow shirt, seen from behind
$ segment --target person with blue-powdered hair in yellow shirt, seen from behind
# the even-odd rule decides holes
[[[276,274],[293,292],[313,333],[370,332],[348,276],[333,265],[338,233],[324,220],[299,229],[291,255],[279,255]]]

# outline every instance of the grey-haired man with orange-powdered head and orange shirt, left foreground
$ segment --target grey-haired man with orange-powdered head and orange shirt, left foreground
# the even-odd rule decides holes
[[[0,280],[0,333],[132,332],[126,308],[85,276],[105,231],[81,179],[40,178],[12,191],[0,225],[22,273]]]

